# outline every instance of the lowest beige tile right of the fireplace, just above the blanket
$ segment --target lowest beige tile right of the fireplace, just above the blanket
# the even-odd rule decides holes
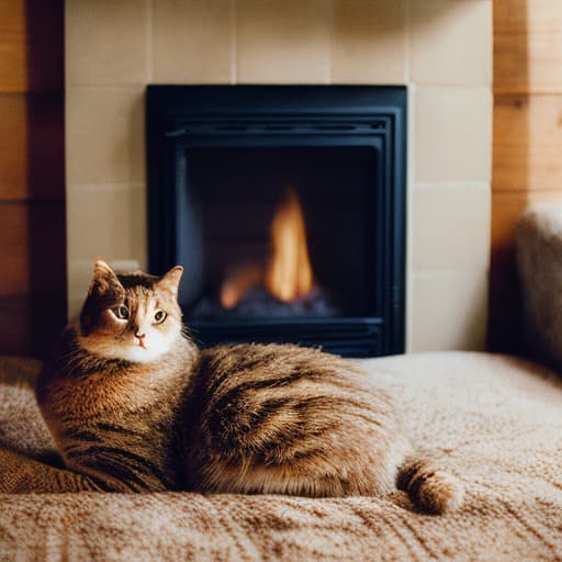
[[[487,285],[481,269],[416,274],[409,351],[483,350]]]

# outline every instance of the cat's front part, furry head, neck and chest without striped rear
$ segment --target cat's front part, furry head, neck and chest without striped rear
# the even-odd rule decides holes
[[[184,463],[173,428],[199,351],[183,335],[180,274],[117,278],[97,263],[80,322],[65,330],[40,374],[37,402],[66,467],[104,490],[181,487]],[[111,312],[121,305],[131,311],[126,322]],[[160,310],[165,322],[151,326],[147,316]],[[135,344],[139,329],[146,349]],[[145,350],[150,359],[127,359]]]

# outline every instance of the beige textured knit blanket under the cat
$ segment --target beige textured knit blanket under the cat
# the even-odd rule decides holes
[[[459,512],[417,514],[400,492],[383,499],[8,493],[33,477],[22,456],[0,465],[0,560],[562,560],[560,380],[486,353],[361,364],[401,397],[414,440],[464,482]],[[0,360],[0,442],[50,461],[31,386],[37,368]]]

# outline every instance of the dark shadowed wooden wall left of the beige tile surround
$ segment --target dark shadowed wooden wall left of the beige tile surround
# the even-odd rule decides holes
[[[0,353],[66,321],[64,1],[0,0]]]

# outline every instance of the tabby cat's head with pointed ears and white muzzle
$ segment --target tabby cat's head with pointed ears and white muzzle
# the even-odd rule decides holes
[[[133,362],[154,361],[182,336],[178,286],[183,268],[159,277],[115,273],[97,261],[80,314],[80,346]]]

